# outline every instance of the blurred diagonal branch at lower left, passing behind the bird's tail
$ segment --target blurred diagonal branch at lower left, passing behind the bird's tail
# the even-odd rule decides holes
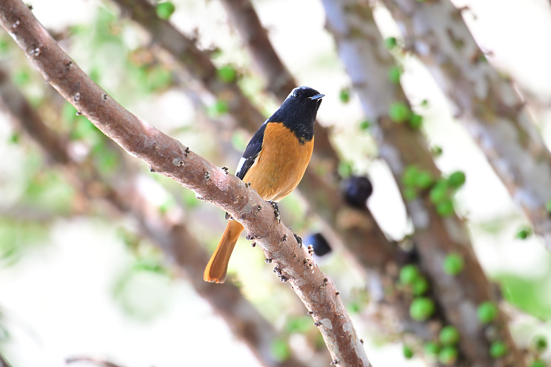
[[[158,214],[158,210],[144,207],[147,200],[140,198],[139,193],[129,190],[126,186],[121,188],[100,179],[83,179],[98,178],[100,174],[95,167],[83,167],[82,164],[71,160],[66,144],[45,125],[1,68],[0,100],[4,102],[0,105],[13,116],[14,123],[44,150],[52,162],[64,168],[77,190],[82,191],[90,200],[103,200],[118,212],[136,219],[143,236],[148,237],[155,246],[164,251],[165,257],[174,262],[179,271],[186,275],[196,291],[211,303],[232,332],[249,345],[263,366],[303,367],[294,357],[284,362],[275,361],[271,357],[270,348],[277,339],[278,332],[247,299],[244,299],[234,284],[225,283],[220,284],[220,287],[213,287],[213,284],[203,282],[203,267],[208,262],[209,255],[189,234],[184,224],[174,223],[169,217]],[[134,180],[127,177],[126,181]],[[88,190],[90,186],[96,189]],[[99,187],[102,189],[97,190]]]

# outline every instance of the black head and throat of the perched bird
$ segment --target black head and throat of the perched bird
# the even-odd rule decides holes
[[[304,141],[314,137],[314,123],[321,104],[321,95],[317,90],[308,87],[293,89],[285,102],[268,119],[268,122],[282,122]]]

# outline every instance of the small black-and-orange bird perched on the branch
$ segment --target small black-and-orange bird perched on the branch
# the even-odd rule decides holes
[[[289,195],[304,175],[314,148],[314,122],[321,104],[317,90],[295,88],[285,102],[249,141],[237,166],[236,176],[266,201],[278,203]],[[243,231],[230,219],[224,235],[208,262],[203,279],[223,283],[227,263]]]

